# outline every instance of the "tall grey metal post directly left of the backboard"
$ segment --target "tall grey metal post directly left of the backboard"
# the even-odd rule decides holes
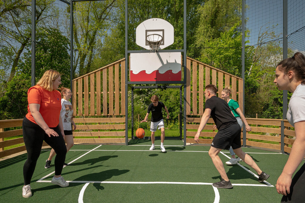
[[[128,145],[128,0],[125,0],[125,145]]]

